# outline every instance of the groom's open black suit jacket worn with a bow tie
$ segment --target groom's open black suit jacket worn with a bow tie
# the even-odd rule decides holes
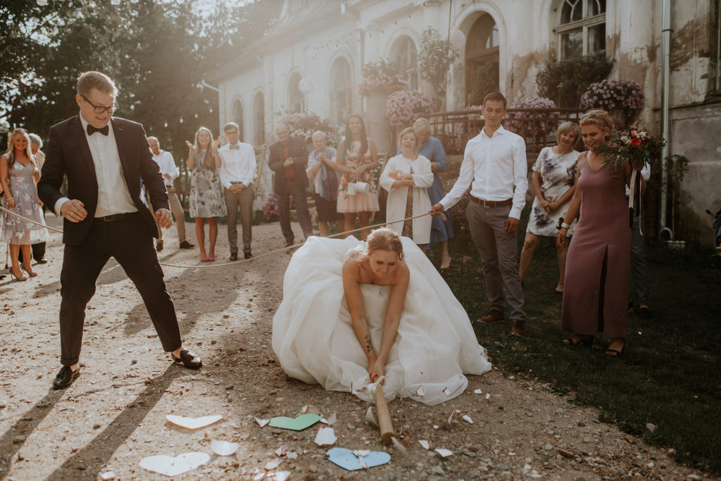
[[[153,160],[143,125],[122,118],[112,118],[110,125],[118,144],[125,185],[128,185],[133,204],[145,221],[148,234],[157,237],[155,220],[141,200],[141,182],[148,191],[154,211],[159,208],[169,209],[170,206],[163,177],[158,164]],[[56,202],[64,197],[60,192],[63,176],[68,177],[67,197],[80,200],[88,213],[80,222],[65,219],[63,223],[63,242],[78,245],[88,233],[97,208],[95,165],[79,115],[50,127],[45,164],[40,182],[37,182],[37,194],[45,206],[53,211]]]

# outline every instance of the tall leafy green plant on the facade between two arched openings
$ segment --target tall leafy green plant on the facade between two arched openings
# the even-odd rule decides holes
[[[446,98],[446,84],[451,65],[459,58],[451,43],[443,39],[438,30],[428,27],[420,34],[420,53],[418,69],[423,80],[428,81],[435,91],[436,108],[443,105]]]

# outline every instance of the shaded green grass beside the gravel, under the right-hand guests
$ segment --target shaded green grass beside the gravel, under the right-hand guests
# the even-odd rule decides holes
[[[466,232],[458,234],[451,242],[453,265],[443,277],[469,317],[477,319],[489,309],[482,266]],[[518,239],[520,255],[523,234]],[[438,257],[433,252],[434,262]],[[558,267],[550,241],[536,249],[526,275],[526,337],[511,336],[509,322],[473,322],[474,329],[504,371],[550,382],[556,392],[568,394],[569,402],[600,407],[600,417],[623,431],[676,449],[679,462],[720,473],[720,259],[697,246],[651,248],[647,259],[653,318],[629,314],[622,357],[605,356],[609,340],[600,335],[593,350],[562,344],[568,334],[559,328],[561,296],[553,293]],[[655,432],[646,423],[656,425]]]

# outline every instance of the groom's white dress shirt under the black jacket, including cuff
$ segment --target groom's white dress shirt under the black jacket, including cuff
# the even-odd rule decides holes
[[[115,141],[112,123],[108,124],[107,136],[99,132],[89,136],[87,132],[88,123],[82,115],[80,115],[80,122],[83,126],[85,138],[88,141],[92,163],[95,166],[95,177],[97,178],[95,217],[105,217],[115,213],[137,212],[138,208],[131,199],[130,190],[128,190],[125,177],[123,177],[123,166],[120,164],[118,143]],[[60,216],[60,209],[68,200],[70,199],[63,197],[55,203],[57,216]]]

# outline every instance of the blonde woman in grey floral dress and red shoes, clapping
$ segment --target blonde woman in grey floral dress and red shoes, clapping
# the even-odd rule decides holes
[[[225,216],[225,200],[218,168],[220,137],[213,142],[213,134],[201,127],[195,133],[195,145],[185,141],[190,149],[187,168],[193,171],[190,177],[190,216],[195,217],[195,239],[200,247],[200,262],[216,260],[216,239],[218,239],[218,217]],[[205,255],[205,219],[208,219],[208,255]]]

